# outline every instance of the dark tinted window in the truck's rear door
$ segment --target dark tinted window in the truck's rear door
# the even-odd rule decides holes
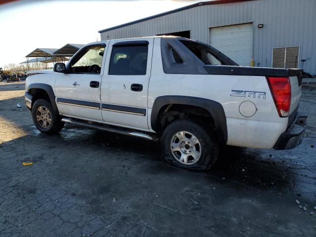
[[[109,75],[146,75],[148,45],[113,46]]]

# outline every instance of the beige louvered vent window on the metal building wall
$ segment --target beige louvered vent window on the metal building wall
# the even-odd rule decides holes
[[[298,68],[299,47],[273,49],[273,68]]]

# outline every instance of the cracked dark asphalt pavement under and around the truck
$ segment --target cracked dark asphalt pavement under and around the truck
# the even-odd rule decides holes
[[[208,172],[166,164],[139,138],[41,134],[23,95],[23,82],[0,83],[0,237],[316,236],[314,87],[299,147],[226,147]]]

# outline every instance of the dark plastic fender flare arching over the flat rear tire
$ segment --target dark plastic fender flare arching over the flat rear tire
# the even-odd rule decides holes
[[[228,132],[226,115],[223,106],[214,100],[199,97],[179,95],[164,95],[157,97],[153,104],[151,113],[151,127],[154,131],[158,131],[158,115],[161,108],[168,104],[191,105],[205,109],[214,119],[214,125],[219,141],[227,143]]]

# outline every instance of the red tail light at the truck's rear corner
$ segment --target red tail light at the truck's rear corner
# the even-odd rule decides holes
[[[268,84],[280,117],[287,117],[291,105],[291,82],[289,78],[268,77]]]

